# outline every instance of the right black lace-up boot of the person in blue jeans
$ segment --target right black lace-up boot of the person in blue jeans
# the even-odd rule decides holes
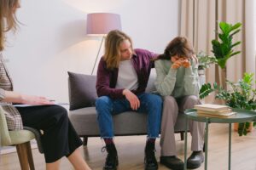
[[[154,156],[154,143],[147,142],[145,147],[145,170],[156,170],[158,169],[158,164]]]

